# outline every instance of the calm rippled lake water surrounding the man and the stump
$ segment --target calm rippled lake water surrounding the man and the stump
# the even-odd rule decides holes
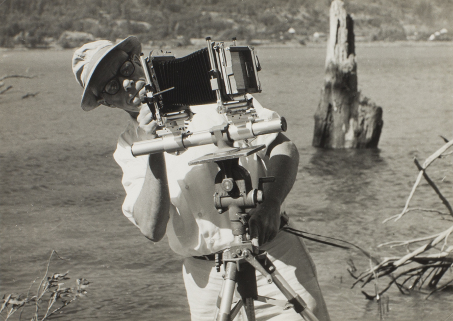
[[[417,176],[413,158],[423,161],[435,152],[443,144],[439,135],[451,139],[453,45],[357,48],[359,87],[384,109],[374,151],[311,147],[324,48],[258,48],[258,55],[264,91],[257,98],[287,118],[287,136],[300,153],[288,196],[290,216],[300,229],[391,256],[405,249],[377,245],[451,225],[438,214],[415,212],[397,223],[382,221],[404,207]],[[26,293],[56,250],[70,260],[52,261],[52,273],[69,270],[68,285],[81,277],[91,281],[88,297],[67,307],[61,319],[189,320],[182,259],[165,240],[154,244],[142,237],[120,211],[121,170],[112,153],[127,116],[107,108],[82,111],[71,56],[72,51],[0,52],[2,75],[37,75],[7,81],[14,87],[0,98],[1,294]],[[451,165],[448,157],[428,171],[450,201]],[[444,210],[425,183],[413,206]],[[356,252],[307,245],[332,320],[379,320],[376,303],[365,300],[361,288],[350,288],[353,279],[346,270],[349,259],[359,269],[367,268],[368,260]],[[392,288],[386,296],[386,320],[452,319],[451,292],[424,300],[423,293],[403,296]]]

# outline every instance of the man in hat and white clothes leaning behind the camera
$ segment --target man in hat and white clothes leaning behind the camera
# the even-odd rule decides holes
[[[183,277],[192,320],[212,320],[223,282],[215,270],[213,254],[233,240],[228,215],[219,214],[213,202],[215,163],[189,166],[188,162],[212,152],[213,144],[191,147],[180,156],[167,153],[133,157],[132,143],[156,138],[156,121],[140,103],[145,93],[145,76],[138,55],[141,45],[134,37],[117,44],[100,40],[85,44],[74,53],[72,68],[84,88],[81,106],[88,111],[105,105],[127,111],[131,122],[120,135],[114,158],[123,170],[127,193],[122,209],[148,239],[160,241],[166,234],[170,248],[185,257]],[[278,117],[254,100],[260,118]],[[223,124],[216,104],[192,106],[188,130],[197,132]],[[282,276],[320,320],[329,315],[316,279],[316,271],[305,245],[296,236],[279,232],[284,200],[297,174],[298,152],[283,134],[258,136],[253,144],[265,144],[256,154],[240,159],[254,187],[258,179],[274,176],[265,184],[265,202],[251,210],[250,235],[258,238]],[[258,293],[285,300],[273,285],[257,276]],[[293,310],[257,303],[258,320],[299,320]],[[244,316],[245,317],[245,316]]]

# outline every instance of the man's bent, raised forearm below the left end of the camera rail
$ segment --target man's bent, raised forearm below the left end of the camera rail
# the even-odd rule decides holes
[[[145,181],[134,205],[134,218],[144,236],[155,242],[164,237],[169,209],[170,195],[164,155],[149,155]]]

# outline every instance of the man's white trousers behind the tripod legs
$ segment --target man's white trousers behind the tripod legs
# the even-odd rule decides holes
[[[290,286],[307,303],[320,321],[329,321],[329,313],[316,278],[316,268],[306,246],[299,237],[281,231],[271,242],[261,246],[268,258]],[[222,270],[217,272],[212,261],[188,257],[184,260],[183,277],[189,301],[192,321],[212,321],[216,302],[222,287]],[[264,297],[284,300],[283,293],[257,271],[258,294]],[[280,306],[255,301],[256,319],[259,321],[303,320],[293,309],[284,311]],[[239,313],[235,320],[247,318]]]

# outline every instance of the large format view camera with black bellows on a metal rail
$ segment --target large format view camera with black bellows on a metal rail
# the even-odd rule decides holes
[[[258,135],[286,130],[284,118],[259,119],[247,94],[261,92],[258,57],[251,46],[231,46],[211,42],[207,47],[182,58],[152,51],[140,60],[145,71],[147,93],[142,98],[162,128],[159,138],[136,142],[134,156],[168,152],[180,154],[188,147],[215,143],[231,146]],[[186,122],[192,118],[190,106],[217,104],[225,125],[190,133]]]

